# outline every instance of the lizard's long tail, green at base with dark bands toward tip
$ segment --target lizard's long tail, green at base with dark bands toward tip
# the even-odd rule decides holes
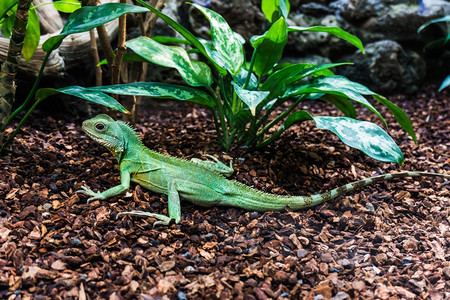
[[[246,192],[240,193],[240,195],[235,196],[233,203],[228,203],[228,205],[257,211],[282,210],[288,205],[291,209],[298,210],[327,202],[331,199],[334,199],[351,191],[361,189],[362,187],[380,181],[386,181],[393,178],[422,177],[422,176],[441,177],[445,179],[450,179],[450,175],[447,174],[428,173],[428,172],[398,172],[358,180],[340,186],[338,188],[332,189],[328,192],[312,196],[280,196],[262,193],[259,191],[255,191],[254,189],[248,188]]]

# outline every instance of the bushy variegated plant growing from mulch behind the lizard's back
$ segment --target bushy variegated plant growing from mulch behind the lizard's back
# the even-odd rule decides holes
[[[360,149],[370,157],[386,162],[403,162],[403,155],[392,138],[376,124],[356,119],[354,103],[359,103],[384,121],[377,109],[366,99],[385,105],[400,125],[415,139],[406,114],[385,97],[365,86],[335,75],[330,69],[337,64],[280,63],[291,32],[325,32],[339,37],[364,51],[361,41],[338,27],[288,26],[287,0],[263,1],[263,11],[272,22],[262,35],[251,40],[253,54],[246,61],[242,39],[235,34],[218,13],[192,4],[210,22],[211,41],[197,38],[186,28],[148,4],[137,0],[178,31],[191,49],[164,45],[140,37],[127,41],[133,53],[125,60],[145,60],[178,70],[188,86],[158,82],[137,82],[112,86],[84,88],[98,97],[105,93],[176,99],[199,103],[211,109],[218,140],[226,150],[234,143],[248,147],[263,147],[277,139],[294,124],[312,120],[316,126],[334,132],[344,143]],[[189,56],[196,52],[206,62]],[[65,90],[59,90],[65,92]],[[82,93],[78,96],[83,95]],[[313,116],[298,110],[302,101],[326,101],[336,106],[344,116]],[[287,105],[280,112],[279,108]]]

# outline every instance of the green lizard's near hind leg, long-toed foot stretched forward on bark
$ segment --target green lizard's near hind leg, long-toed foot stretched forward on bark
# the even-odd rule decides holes
[[[174,219],[175,223],[179,223],[181,221],[180,194],[189,201],[206,207],[216,205],[220,199],[220,194],[207,186],[187,180],[172,179],[167,186],[169,216],[140,210],[132,210],[128,212],[121,212],[117,214],[117,217],[121,215],[130,215],[135,217],[152,217],[158,219],[159,221],[153,223],[153,226],[169,225],[171,219]]]

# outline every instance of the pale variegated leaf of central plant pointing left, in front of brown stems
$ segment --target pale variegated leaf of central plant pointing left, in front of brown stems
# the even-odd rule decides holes
[[[213,83],[208,65],[191,60],[181,47],[166,46],[148,37],[127,41],[126,46],[149,62],[177,69],[183,80],[191,86],[210,86]]]

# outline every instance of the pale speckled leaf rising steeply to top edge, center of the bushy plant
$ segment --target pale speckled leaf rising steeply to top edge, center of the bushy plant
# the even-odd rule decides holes
[[[200,10],[209,20],[214,48],[222,56],[226,69],[233,76],[238,75],[245,59],[242,42],[221,15],[197,4],[192,6]]]

